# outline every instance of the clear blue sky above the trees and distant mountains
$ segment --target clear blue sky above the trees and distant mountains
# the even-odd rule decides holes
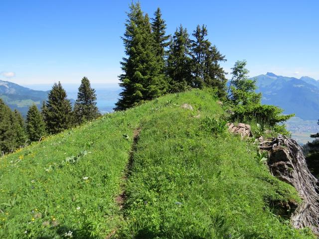
[[[0,79],[18,84],[116,83],[131,0],[1,0]],[[160,6],[173,33],[206,24],[228,71],[246,59],[251,76],[319,79],[318,0],[141,0]]]

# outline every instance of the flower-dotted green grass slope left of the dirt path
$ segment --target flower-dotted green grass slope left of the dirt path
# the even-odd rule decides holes
[[[102,238],[112,231],[132,144],[123,134],[132,135],[137,122],[137,114],[117,113],[1,158],[0,238],[62,238],[68,231]],[[63,163],[81,153],[78,162]]]

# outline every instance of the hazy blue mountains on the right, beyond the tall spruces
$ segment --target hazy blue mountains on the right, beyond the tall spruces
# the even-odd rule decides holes
[[[297,79],[270,72],[251,79],[257,81],[263,104],[279,106],[285,114],[295,113],[301,119],[319,119],[319,81],[307,76]]]

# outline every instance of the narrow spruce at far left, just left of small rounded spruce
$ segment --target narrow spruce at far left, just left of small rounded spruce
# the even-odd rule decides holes
[[[24,146],[24,144],[27,142],[25,122],[17,110],[14,110],[12,113],[12,126],[15,138],[15,148]]]

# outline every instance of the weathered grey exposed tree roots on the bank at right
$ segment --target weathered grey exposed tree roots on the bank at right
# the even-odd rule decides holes
[[[259,148],[269,151],[271,173],[293,185],[303,199],[291,217],[292,225],[297,229],[309,227],[319,235],[318,180],[309,171],[301,146],[294,139],[279,135],[261,142]]]

